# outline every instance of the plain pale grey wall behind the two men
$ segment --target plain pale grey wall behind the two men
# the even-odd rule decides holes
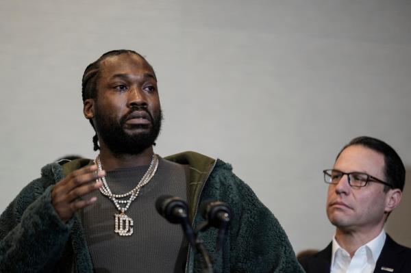
[[[321,170],[351,138],[388,142],[411,183],[411,1],[3,0],[0,38],[1,210],[45,164],[96,156],[81,78],[112,49],[158,75],[156,153],[231,163],[296,252],[334,233]],[[386,226],[406,246],[410,187]]]

